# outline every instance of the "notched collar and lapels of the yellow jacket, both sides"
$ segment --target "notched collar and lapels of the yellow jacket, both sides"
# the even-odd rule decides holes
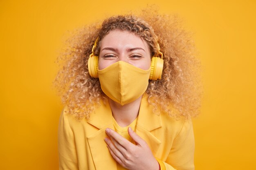
[[[162,120],[160,115],[153,113],[153,107],[148,104],[146,98],[144,95],[141,99],[136,133],[146,141],[153,155],[156,155],[161,141],[150,131],[161,128]],[[107,137],[105,129],[114,129],[110,105],[101,103],[101,106],[90,115],[87,122],[99,129],[87,137],[96,170],[117,170],[116,161],[112,158],[104,141],[104,138]]]

